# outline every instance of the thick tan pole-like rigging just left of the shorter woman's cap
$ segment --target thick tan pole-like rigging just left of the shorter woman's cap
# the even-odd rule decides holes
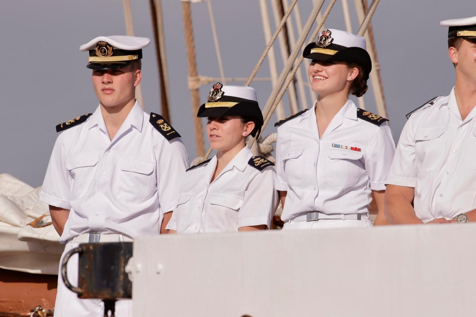
[[[197,78],[197,62],[195,56],[195,40],[193,38],[193,26],[192,26],[192,12],[190,9],[190,2],[182,2],[182,16],[183,26],[185,33],[185,47],[187,50],[187,63],[188,63],[188,78]],[[190,80],[189,80],[190,81]],[[205,146],[203,143],[203,128],[201,118],[197,118],[198,108],[200,107],[200,94],[198,91],[199,85],[189,85],[190,96],[192,100],[192,116],[195,132],[195,145],[197,148],[197,156],[203,156],[205,154]]]

